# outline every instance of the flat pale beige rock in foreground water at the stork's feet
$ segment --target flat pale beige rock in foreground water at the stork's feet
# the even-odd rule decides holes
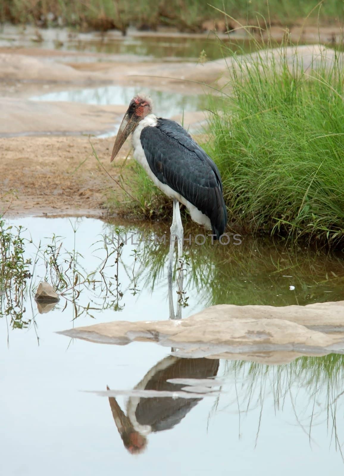
[[[61,334],[104,344],[156,342],[164,347],[177,347],[176,355],[180,357],[226,358],[229,354],[274,351],[293,352],[294,356],[325,355],[344,351],[342,333],[325,334],[296,322],[304,316],[308,323],[312,322],[312,316],[315,322],[319,322],[320,316],[323,322],[326,317],[338,322],[344,316],[344,301],[286,307],[213,306],[182,320],[114,321],[77,327]]]

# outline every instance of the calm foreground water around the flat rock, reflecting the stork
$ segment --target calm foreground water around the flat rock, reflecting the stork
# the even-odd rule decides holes
[[[117,268],[116,234],[103,267],[104,235],[110,243],[116,225],[91,218],[21,218],[11,224],[27,228],[23,234],[32,240],[24,253],[32,258],[27,279],[32,292],[24,293],[22,306],[18,289],[0,296],[1,474],[37,476],[47,467],[51,475],[274,475],[276,468],[282,475],[323,475],[329,468],[341,474],[343,356],[301,357],[268,367],[176,359],[155,344],[99,345],[58,335],[111,320],[167,319],[168,243],[149,238],[154,233],[161,238],[168,226],[123,227],[121,237],[127,233],[128,240]],[[246,237],[240,245],[232,239],[227,246],[197,246],[193,237],[200,230],[186,225],[185,236],[189,233],[188,307],[182,317],[218,303],[344,299],[343,254]],[[61,238],[54,241],[53,234]],[[82,283],[87,275],[94,283],[76,285],[53,310],[39,314],[33,291],[44,277],[56,281],[49,246],[56,251],[61,242],[58,261],[65,279],[74,282],[78,274]],[[11,308],[10,297],[19,306]],[[209,377],[212,385],[204,380]],[[115,390],[110,400],[98,394],[107,385]],[[152,391],[150,398],[142,398],[142,388]],[[180,392],[192,392],[192,398]],[[151,426],[142,432],[145,450],[138,456],[125,448],[114,421],[131,435],[132,408],[142,426]]]

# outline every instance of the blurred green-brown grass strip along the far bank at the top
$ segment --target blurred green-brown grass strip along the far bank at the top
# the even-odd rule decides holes
[[[225,11],[231,17],[225,17]],[[245,24],[266,23],[290,26],[308,21],[322,24],[340,21],[343,2],[338,0],[4,0],[0,20],[12,23],[34,23],[37,26],[72,26],[80,30],[111,29],[123,34],[129,25],[139,30],[156,30],[170,26],[179,31],[199,32],[207,29],[232,30],[233,20]]]

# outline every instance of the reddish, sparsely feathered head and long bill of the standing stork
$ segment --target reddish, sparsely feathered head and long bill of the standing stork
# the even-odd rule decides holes
[[[145,94],[137,94],[130,101],[129,108],[124,115],[121,122],[120,129],[118,129],[115,144],[112,149],[111,160],[116,157],[120,151],[125,139],[135,129],[138,123],[152,112],[152,99]]]

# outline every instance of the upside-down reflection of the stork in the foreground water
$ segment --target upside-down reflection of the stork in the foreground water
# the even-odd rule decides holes
[[[219,359],[179,358],[168,356],[147,372],[135,387],[140,390],[176,392],[185,384],[167,382],[172,378],[216,377]],[[108,390],[109,387],[107,387]],[[200,398],[130,397],[125,413],[116,398],[109,397],[112,416],[124,446],[132,454],[142,453],[147,446],[147,436],[152,432],[168,430],[178,425],[195,407]]]

